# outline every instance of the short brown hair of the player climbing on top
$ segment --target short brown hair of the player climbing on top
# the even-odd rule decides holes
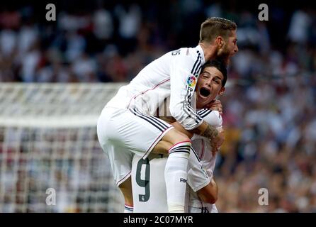
[[[219,35],[228,38],[232,31],[237,29],[234,21],[220,17],[211,17],[201,24],[200,42],[211,42]]]

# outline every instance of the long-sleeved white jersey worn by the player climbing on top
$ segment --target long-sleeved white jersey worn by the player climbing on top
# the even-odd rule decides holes
[[[196,128],[203,120],[196,114],[191,99],[204,63],[200,45],[167,52],[142,69],[130,84],[121,87],[106,106],[136,108],[143,114],[154,116],[170,96],[171,115],[186,130]]]

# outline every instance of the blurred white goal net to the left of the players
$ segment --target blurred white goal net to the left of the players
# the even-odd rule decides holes
[[[0,212],[123,212],[96,136],[122,84],[0,84]]]

